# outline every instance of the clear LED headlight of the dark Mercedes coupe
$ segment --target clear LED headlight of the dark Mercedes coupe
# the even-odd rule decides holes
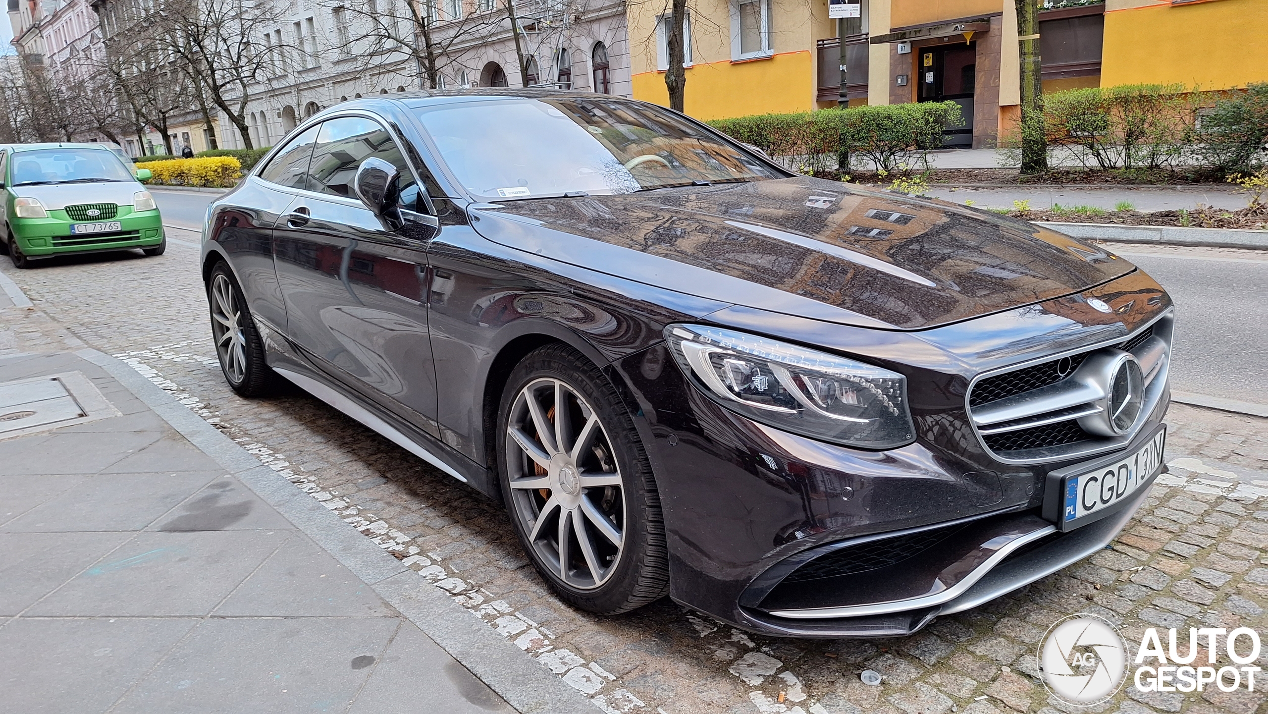
[[[699,325],[670,325],[664,339],[706,394],[753,421],[862,449],[915,438],[896,372]]]

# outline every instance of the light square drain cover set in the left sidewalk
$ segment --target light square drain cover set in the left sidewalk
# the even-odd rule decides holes
[[[118,415],[79,372],[0,384],[0,439]]]

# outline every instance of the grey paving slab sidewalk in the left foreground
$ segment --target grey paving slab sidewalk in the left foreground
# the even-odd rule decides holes
[[[0,359],[0,710],[514,711],[110,361]]]

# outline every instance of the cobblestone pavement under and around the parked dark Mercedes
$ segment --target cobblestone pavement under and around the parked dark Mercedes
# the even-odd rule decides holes
[[[668,600],[618,618],[572,610],[474,491],[298,389],[235,396],[186,245],[5,270],[36,307],[0,309],[0,354],[82,340],[127,360],[607,711],[1075,713],[1035,668],[1040,639],[1064,615],[1104,616],[1129,648],[1148,626],[1268,629],[1268,420],[1174,405],[1172,473],[1118,542],[1003,599],[909,638],[761,638]],[[1268,643],[1257,663],[1268,670]],[[865,668],[884,675],[880,686],[860,681]],[[1262,691],[1140,692],[1129,682],[1090,710],[1264,714],[1268,704]]]

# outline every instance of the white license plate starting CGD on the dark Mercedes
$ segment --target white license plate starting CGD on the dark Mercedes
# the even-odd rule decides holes
[[[1101,516],[1148,484],[1163,465],[1167,429],[1159,430],[1140,450],[1118,463],[1070,476],[1061,484],[1061,530],[1078,528]],[[1087,519],[1087,520],[1084,520]],[[1079,523],[1082,521],[1082,523]]]

